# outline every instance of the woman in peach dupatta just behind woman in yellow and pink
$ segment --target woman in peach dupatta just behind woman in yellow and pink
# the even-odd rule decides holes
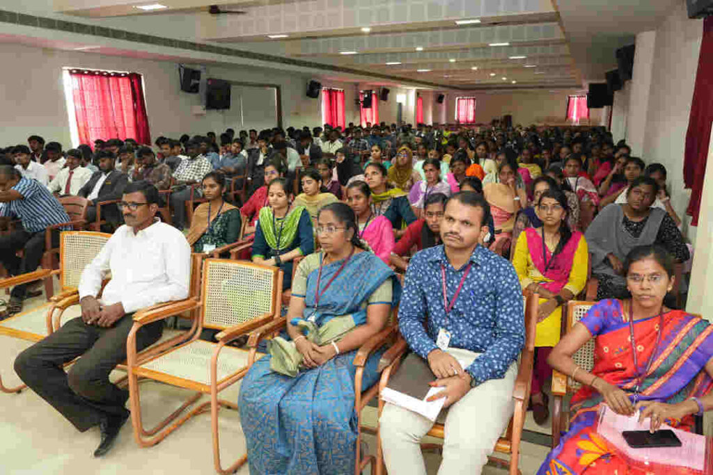
[[[483,196],[490,204],[495,222],[496,238],[491,249],[495,249],[498,241],[512,238],[515,213],[527,203],[525,189],[516,186],[517,174],[517,167],[512,162],[501,162],[498,166],[498,181],[483,185]]]

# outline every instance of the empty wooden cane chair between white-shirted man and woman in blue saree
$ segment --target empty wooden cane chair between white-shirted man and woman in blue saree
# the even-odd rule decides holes
[[[127,362],[131,422],[140,447],[158,444],[195,414],[210,407],[215,470],[220,474],[230,474],[245,464],[247,455],[227,469],[223,469],[220,463],[218,409],[220,406],[235,408],[236,404],[219,400],[218,393],[241,380],[252,363],[262,355],[255,348],[247,351],[226,345],[279,317],[281,289],[282,272],[277,268],[245,261],[205,259],[202,263],[200,299],[188,298],[158,309],[140,310],[133,315],[134,325],[127,340]],[[199,309],[200,314],[193,319],[192,336],[187,343],[158,355],[137,355],[136,332],[143,325]],[[204,327],[222,330],[215,337],[218,343],[198,339]],[[145,429],[141,417],[139,377],[193,390],[195,394],[156,427]],[[203,394],[210,395],[210,401],[195,405]],[[190,407],[193,409],[176,420]]]

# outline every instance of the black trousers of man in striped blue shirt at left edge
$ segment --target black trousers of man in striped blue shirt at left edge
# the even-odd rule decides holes
[[[52,245],[59,244],[59,232],[52,234]],[[16,229],[0,236],[0,262],[11,276],[19,276],[37,270],[45,251],[45,231],[30,233],[24,229]],[[20,259],[16,254],[24,249],[24,256]],[[27,293],[27,284],[15,286],[11,297],[22,300]]]

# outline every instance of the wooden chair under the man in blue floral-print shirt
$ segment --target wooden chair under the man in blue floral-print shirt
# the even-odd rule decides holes
[[[518,376],[515,379],[515,387],[513,388],[513,399],[515,400],[515,410],[513,417],[508,424],[506,434],[498,439],[494,451],[501,454],[509,454],[510,460],[500,459],[495,456],[488,457],[489,461],[501,468],[508,467],[510,475],[521,474],[518,468],[520,460],[520,438],[523,433],[523,424],[525,424],[525,414],[528,409],[530,400],[530,383],[532,382],[533,361],[535,359],[535,325],[537,324],[538,298],[534,293],[528,293],[523,296],[525,302],[525,346],[520,354],[520,362],[518,367]],[[384,372],[381,372],[381,381],[379,382],[379,391],[384,389],[389,384],[389,377],[399,367],[401,356],[406,353],[406,340],[399,335],[399,340],[396,341],[384,354],[384,358],[389,362]],[[379,417],[384,409],[384,401],[379,399]],[[476,422],[474,422],[476,423]],[[428,436],[437,437],[438,439],[445,438],[446,427],[443,424],[436,422],[434,427],[428,432]],[[377,429],[377,439],[379,430]],[[434,444],[421,444],[424,448],[434,448]],[[384,474],[384,453],[381,449],[381,439],[378,439],[376,447],[376,474]]]

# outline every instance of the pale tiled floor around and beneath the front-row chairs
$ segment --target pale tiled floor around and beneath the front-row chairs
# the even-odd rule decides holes
[[[35,299],[31,305],[43,303]],[[73,308],[73,315],[78,315]],[[68,314],[71,315],[71,314]],[[19,382],[12,371],[14,357],[29,343],[0,335],[0,375],[6,385]],[[116,373],[120,376],[120,373]],[[157,421],[169,409],[178,407],[188,392],[156,383],[141,385],[142,412],[146,427]],[[227,400],[236,400],[239,386],[222,394]],[[366,424],[374,422],[376,410],[367,407]],[[528,415],[525,429],[548,434],[549,429],[538,427]],[[220,446],[225,463],[245,451],[245,439],[240,430],[240,416],[236,411],[225,410],[220,418]],[[98,444],[98,429],[80,433],[66,422],[58,412],[41,400],[34,392],[26,390],[19,395],[0,394],[0,441],[2,441],[2,474],[211,474],[212,442],[210,415],[201,414],[187,422],[160,444],[141,449],[133,440],[130,424],[126,424],[116,447],[103,459],[91,456]],[[374,437],[366,436],[369,451],[374,451]],[[523,442],[520,469],[523,474],[535,474],[547,447]],[[436,474],[439,464],[437,454],[426,454],[429,474]],[[237,472],[247,475],[247,466]],[[366,471],[365,471],[366,473]],[[486,467],[484,474],[505,474],[506,471]]]

